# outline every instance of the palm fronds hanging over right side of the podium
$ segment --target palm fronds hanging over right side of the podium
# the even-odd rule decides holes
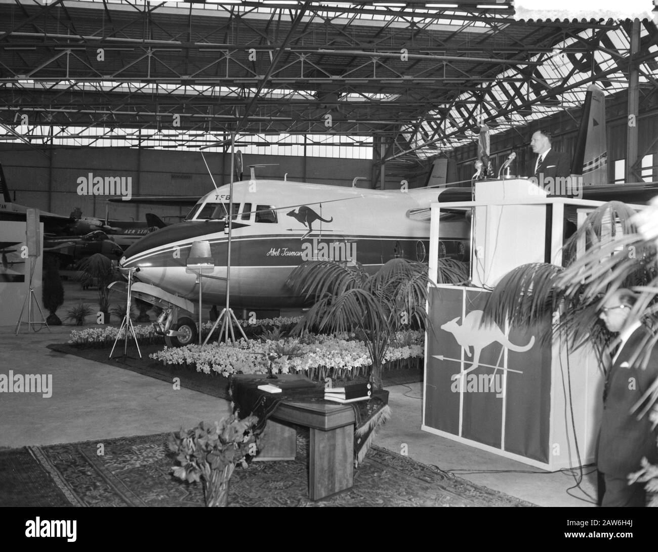
[[[655,241],[638,234],[637,220],[624,203],[601,205],[565,243],[566,268],[532,263],[511,270],[488,298],[485,318],[532,326],[553,316],[553,331],[543,336],[544,343],[560,335],[572,347],[589,344],[600,355],[611,336],[599,324],[599,307],[616,289],[645,289],[636,311],[655,313],[649,307],[658,292],[650,291],[658,284]]]

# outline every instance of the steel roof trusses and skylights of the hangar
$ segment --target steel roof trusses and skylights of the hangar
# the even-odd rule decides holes
[[[32,145],[386,145],[413,161],[626,88],[630,21],[508,4],[0,0],[0,125]],[[640,86],[658,86],[642,22]],[[283,151],[283,150],[282,150]]]

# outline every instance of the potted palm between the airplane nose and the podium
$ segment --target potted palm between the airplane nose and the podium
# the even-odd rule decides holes
[[[439,283],[466,279],[465,264],[440,259]],[[286,284],[315,301],[291,334],[311,329],[361,334],[372,360],[369,376],[376,389],[382,388],[384,355],[395,331],[412,324],[426,325],[428,266],[424,263],[392,259],[370,275],[358,263],[350,267],[333,261],[308,261],[293,269]]]

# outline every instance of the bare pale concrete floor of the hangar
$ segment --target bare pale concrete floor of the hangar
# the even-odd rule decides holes
[[[94,290],[82,291],[79,284],[65,284],[66,302],[61,318],[74,303],[84,301],[95,308]],[[118,302],[118,298],[113,303]],[[90,327],[92,324],[87,324]],[[18,336],[14,326],[0,326],[0,373],[51,374],[52,396],[37,393],[0,394],[0,447],[48,445],[147,435],[191,427],[199,420],[213,421],[230,413],[228,401],[188,389],[174,390],[172,384],[141,376],[103,363],[87,361],[47,349],[62,343],[75,326],[57,326],[48,332],[28,332],[24,324]],[[478,485],[502,491],[539,506],[593,507],[590,499],[574,486],[574,478],[563,472],[542,472],[498,455],[420,430],[421,384],[394,386],[389,404],[392,419],[376,436],[375,444]],[[406,447],[404,446],[406,445]],[[592,471],[586,468],[585,471]],[[467,473],[468,472],[468,473]],[[581,483],[595,496],[595,476]],[[580,497],[580,499],[576,498]]]

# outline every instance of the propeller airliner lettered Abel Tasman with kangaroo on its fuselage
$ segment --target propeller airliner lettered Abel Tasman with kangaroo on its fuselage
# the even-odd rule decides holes
[[[437,201],[444,191],[372,190],[255,178],[235,182],[232,197],[229,190],[230,184],[225,184],[207,193],[186,220],[141,238],[120,261],[121,268],[139,268],[135,274],[139,281],[132,286],[136,297],[149,301],[178,296],[170,301],[172,314],[162,328],[170,344],[193,342],[196,335],[191,318],[178,317],[180,310],[194,312],[192,301],[199,293],[195,274],[186,270],[195,241],[208,241],[211,256],[222,263],[212,278],[203,279],[203,302],[219,305],[226,300],[229,211],[232,307],[301,309],[303,298],[293,295],[284,282],[303,261],[360,263],[375,272],[395,257],[426,260],[428,224],[409,215]],[[467,259],[470,222],[463,214],[446,213],[445,223],[446,255]]]

